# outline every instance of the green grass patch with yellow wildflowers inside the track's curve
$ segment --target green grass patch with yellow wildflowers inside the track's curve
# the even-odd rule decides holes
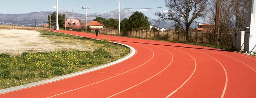
[[[56,76],[82,71],[118,60],[130,53],[123,45],[107,39],[97,41],[73,35],[40,31],[45,36],[92,41],[93,51],[58,50],[51,52],[25,52],[19,56],[0,54],[0,89],[33,83]]]

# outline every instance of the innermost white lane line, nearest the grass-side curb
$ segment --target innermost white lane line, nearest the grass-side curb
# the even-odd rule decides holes
[[[137,44],[136,44],[136,45],[137,45]],[[140,46],[142,46],[142,45],[140,45]],[[143,46],[143,47],[145,47],[145,46]],[[145,48],[147,48],[147,47],[145,47]],[[149,48],[148,48],[148,49],[149,49]],[[151,49],[149,49],[149,50],[151,50]],[[127,72],[130,72],[130,71],[132,71],[132,70],[134,70],[134,69],[136,69],[136,68],[138,68],[138,67],[141,67],[142,65],[148,63],[151,59],[153,59],[153,57],[154,57],[154,55],[155,55],[152,50],[151,50],[151,52],[152,52],[153,55],[152,55],[152,57],[151,57],[148,61],[146,61],[145,63],[143,63],[143,64],[141,64],[141,65],[139,65],[139,66],[137,66],[137,67],[135,67],[135,68],[133,68],[133,69],[130,69],[129,71],[120,73],[119,75],[122,75],[122,74],[125,74],[125,73],[127,73]],[[115,76],[112,76],[112,77],[110,77],[110,78],[107,78],[107,79],[104,79],[104,80],[101,80],[101,81],[98,81],[98,82],[95,82],[95,83],[92,83],[92,84],[89,84],[89,85],[86,85],[86,86],[82,86],[82,87],[79,87],[79,88],[76,88],[76,89],[73,89],[73,90],[70,90],[70,91],[66,91],[66,92],[63,92],[63,93],[60,93],[60,94],[52,95],[52,96],[47,97],[47,98],[55,97],[55,96],[57,96],[57,95],[65,94],[65,93],[68,93],[68,92],[71,92],[71,91],[75,91],[75,90],[78,90],[78,89],[81,89],[81,88],[84,88],[84,87],[88,87],[88,86],[91,86],[91,85],[93,85],[93,84],[97,84],[97,83],[103,82],[103,81],[105,81],[105,80],[114,78],[114,77],[119,76],[119,75],[115,75]]]

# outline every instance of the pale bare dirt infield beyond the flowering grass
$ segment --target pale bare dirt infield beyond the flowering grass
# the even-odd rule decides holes
[[[88,50],[79,42],[59,43],[34,30],[0,29],[0,53],[20,55],[24,52],[49,52],[52,50]]]

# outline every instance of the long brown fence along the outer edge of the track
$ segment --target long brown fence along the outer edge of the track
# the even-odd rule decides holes
[[[94,30],[91,30],[94,32]],[[118,30],[102,29],[100,33],[118,35]],[[186,33],[176,31],[141,31],[141,30],[120,30],[120,35],[127,37],[138,37],[147,39],[161,39],[166,41],[188,42]],[[216,45],[217,35],[219,35],[219,45],[223,47],[233,47],[233,34],[213,34],[210,32],[189,32],[189,42]]]

